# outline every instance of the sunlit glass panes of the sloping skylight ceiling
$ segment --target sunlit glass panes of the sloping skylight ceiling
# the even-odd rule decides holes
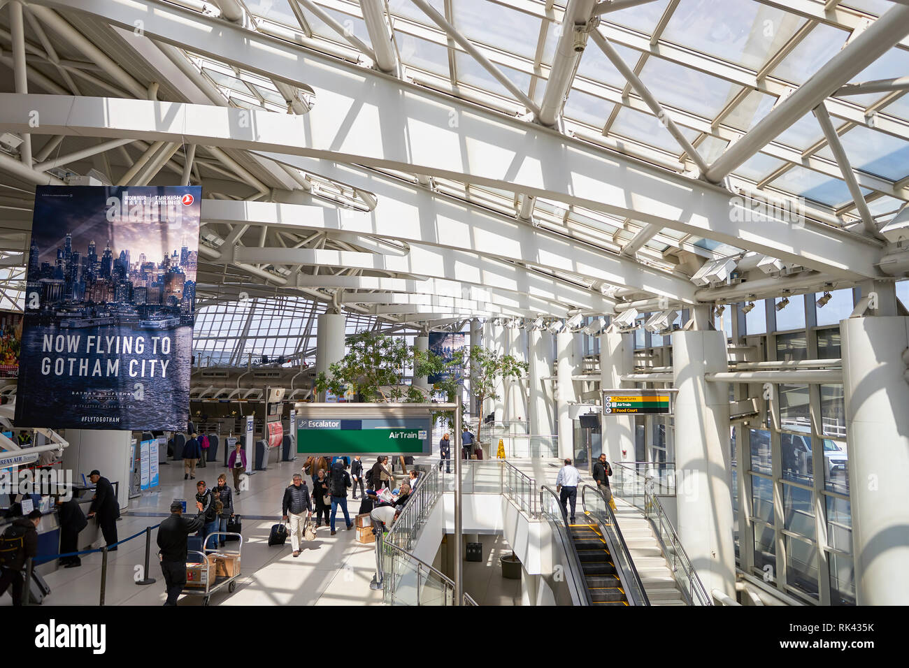
[[[353,33],[370,44],[358,2],[320,0],[315,4],[345,26],[348,35]],[[346,35],[325,25],[303,3],[246,0],[245,5],[261,19],[260,30],[267,32],[269,24],[280,24],[316,42],[331,43],[335,52],[341,49],[353,58],[358,56]],[[534,101],[542,100],[564,3],[433,0],[431,5],[514,85]],[[727,0],[722,11],[717,11],[714,0],[657,0],[604,14],[596,29],[634,68],[709,163],[721,155],[731,139],[764,118],[787,88],[804,84],[837,54],[854,26],[886,11],[889,5],[888,0],[844,2],[838,7],[842,13],[837,18],[843,24],[827,21],[809,25],[804,15],[784,10],[776,3]],[[449,93],[456,91],[466,99],[502,110],[523,108],[483,65],[455,45],[410,0],[388,0],[387,7],[397,55],[406,74],[417,83]],[[282,95],[270,82],[255,82],[253,75],[230,70],[215,64],[204,68],[216,85],[229,91],[236,105],[258,105],[275,111],[284,106]],[[854,82],[907,74],[909,50],[899,46],[869,65]],[[761,76],[760,91],[754,89],[757,75]],[[863,188],[864,194],[872,195],[872,202],[882,196],[904,201],[904,184],[900,182],[909,177],[909,100],[904,93],[840,98],[839,109],[849,105],[893,121],[886,131],[878,129],[881,124],[870,127],[846,122],[837,116],[836,109],[831,110],[853,169],[874,176],[869,182],[873,187],[881,184],[879,191]],[[626,85],[624,77],[593,40],[588,41],[577,65],[564,104],[564,122],[566,129],[584,139],[611,146],[617,141],[621,150],[632,155],[638,152],[644,159],[658,157],[662,165],[667,161],[678,165],[680,172],[693,167],[687,156],[684,163],[680,162],[682,148]],[[809,156],[811,160],[807,159]],[[844,224],[850,224],[857,214],[844,180],[837,177],[837,169],[820,126],[809,114],[765,146],[761,154],[746,161],[733,177],[752,187],[766,188],[770,194],[804,197],[807,206],[824,214],[838,213]],[[476,196],[474,188],[454,184],[443,187],[452,194],[460,191],[468,197]],[[505,207],[519,204],[514,197],[501,199],[497,204]],[[485,204],[491,203],[487,198]],[[882,215],[892,214],[893,210],[891,205]],[[584,216],[589,217],[589,213],[569,208],[565,221],[584,223]],[[539,203],[534,214],[545,214]],[[633,238],[634,230],[641,226],[634,221],[609,220],[608,224],[623,231],[614,236],[620,244]],[[665,234],[657,234],[642,250],[646,253],[649,249],[659,256],[666,247]]]

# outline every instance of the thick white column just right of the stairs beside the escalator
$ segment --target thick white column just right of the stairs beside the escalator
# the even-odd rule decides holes
[[[675,487],[678,533],[707,591],[735,596],[729,385],[723,332],[673,334]]]

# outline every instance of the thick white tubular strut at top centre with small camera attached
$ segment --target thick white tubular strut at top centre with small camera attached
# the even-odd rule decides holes
[[[555,45],[553,65],[540,102],[538,116],[543,125],[552,127],[562,114],[562,106],[587,41],[586,31],[593,9],[594,0],[568,0],[562,17],[561,34]]]

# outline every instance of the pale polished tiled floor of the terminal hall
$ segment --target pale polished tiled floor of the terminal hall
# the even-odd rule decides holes
[[[433,449],[438,451],[438,439],[434,434]],[[417,458],[417,463],[437,463],[438,455]],[[324,526],[316,533],[315,541],[308,543],[298,558],[291,556],[290,541],[283,548],[269,547],[268,532],[277,522],[281,512],[281,499],[292,475],[300,471],[302,460],[271,464],[266,471],[256,472],[249,477],[249,489],[235,498],[236,512],[244,516],[241,577],[234,593],[226,589],[213,594],[213,604],[225,605],[268,605],[268,604],[378,604],[382,593],[369,589],[369,582],[375,572],[375,546],[373,543],[357,543],[355,531],[345,531],[344,520],[338,518],[335,536]],[[371,464],[365,462],[366,465]],[[454,462],[452,462],[454,464]],[[554,484],[557,466],[548,461],[524,461],[518,464],[522,471],[536,481]],[[186,499],[192,502],[195,484],[205,480],[213,486],[218,474],[229,471],[223,464],[209,463],[205,468],[196,469],[195,480],[184,480],[183,465],[171,462],[160,467],[161,484],[153,492],[130,501],[129,508],[117,523],[120,539],[140,533],[147,526],[160,523],[168,514],[170,502]],[[499,487],[499,476],[494,469],[485,467],[476,475],[478,486]],[[468,491],[469,490],[465,490]],[[488,491],[488,490],[484,490]],[[191,504],[191,503],[190,503]],[[359,501],[348,500],[351,517],[359,508]],[[109,554],[106,605],[160,605],[165,600],[164,578],[155,553],[156,532],[152,532],[150,574],[157,582],[138,585],[136,580],[143,577],[145,561],[145,537],[120,545],[116,552]],[[493,543],[488,543],[493,541]],[[488,543],[488,544],[487,544]],[[501,537],[484,536],[484,554],[487,563],[465,563],[466,590],[474,595],[477,603],[513,604],[520,603],[520,582],[504,580],[498,557],[509,552]],[[101,555],[92,553],[83,556],[79,568],[58,569],[47,573],[45,580],[51,588],[47,603],[55,605],[96,605],[99,601],[101,580]],[[475,593],[474,593],[475,592]],[[515,599],[516,597],[516,599]],[[202,596],[186,595],[181,605],[202,603]],[[0,598],[0,605],[9,605],[8,595]]]

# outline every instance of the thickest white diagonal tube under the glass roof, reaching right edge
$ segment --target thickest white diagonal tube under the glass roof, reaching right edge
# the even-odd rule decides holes
[[[874,63],[909,33],[909,6],[894,5],[869,25],[803,85],[784,101],[774,106],[757,125],[729,146],[704,173],[713,183],[719,183],[736,167],[793,125],[802,116],[824,102],[854,75]]]

